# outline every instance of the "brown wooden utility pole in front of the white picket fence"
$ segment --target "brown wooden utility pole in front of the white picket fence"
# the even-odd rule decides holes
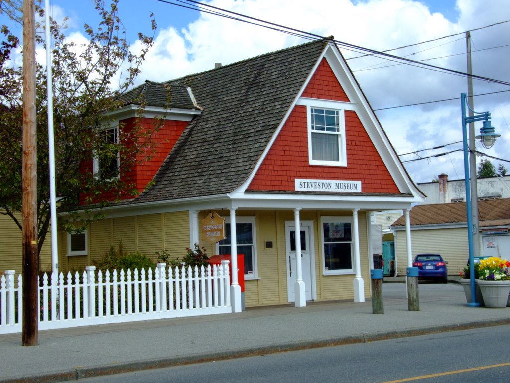
[[[35,11],[33,0],[23,0],[23,326],[22,345],[39,343],[37,253],[37,129],[35,77]]]

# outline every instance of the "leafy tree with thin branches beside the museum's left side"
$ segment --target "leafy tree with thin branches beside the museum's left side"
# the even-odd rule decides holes
[[[5,4],[16,4],[16,1]],[[64,26],[51,21],[50,32],[53,48],[54,89],[54,135],[56,162],[56,189],[59,203],[67,211],[76,212],[80,193],[88,196],[86,202],[94,202],[97,196],[108,191],[114,198],[126,198],[137,193],[135,185],[127,177],[140,155],[150,153],[150,133],[141,124],[129,130],[119,126],[119,142],[105,140],[105,126],[109,126],[107,112],[121,105],[120,96],[133,85],[140,74],[153,37],[139,34],[142,49],[138,55],[130,51],[125,31],[118,17],[118,0],[94,0],[100,22],[97,29],[85,24],[84,33],[89,42],[78,45],[68,42],[62,30]],[[16,7],[10,8],[15,14]],[[43,10],[36,6],[43,17]],[[151,15],[153,32],[156,30]],[[21,169],[22,169],[22,68],[13,66],[11,52],[19,48],[19,40],[2,27],[0,46],[0,212],[11,217],[21,229]],[[36,44],[45,48],[43,34],[37,34]],[[46,68],[37,64],[37,217],[39,252],[48,232],[49,214],[49,166],[47,129]],[[142,107],[138,115],[143,113]],[[157,129],[157,126],[154,127]],[[137,142],[139,145],[132,145]],[[100,179],[83,164],[91,162],[91,155],[120,155],[121,177]],[[82,201],[83,202],[83,201]],[[105,203],[100,204],[103,206]],[[82,224],[101,218],[101,214],[89,213]],[[73,220],[78,220],[74,214]],[[75,222],[68,220],[64,227],[70,230]]]

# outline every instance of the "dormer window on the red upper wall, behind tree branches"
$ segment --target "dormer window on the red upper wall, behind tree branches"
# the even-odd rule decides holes
[[[105,129],[101,138],[105,140],[106,145],[101,149],[100,155],[97,152],[94,154],[92,161],[94,176],[101,180],[118,178],[120,166],[119,151],[116,146],[119,142],[118,126]]]

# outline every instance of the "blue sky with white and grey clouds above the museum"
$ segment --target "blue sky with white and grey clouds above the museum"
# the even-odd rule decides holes
[[[202,2],[278,25],[465,73],[466,38],[471,32],[473,74],[510,82],[510,7],[508,0],[212,0]],[[97,16],[90,0],[53,0],[52,15],[69,17],[66,35],[83,39],[85,22]],[[137,33],[150,32],[149,14],[158,24],[155,45],[142,66],[138,83],[165,81],[307,42],[260,26],[187,9],[186,1],[120,0],[119,14],[127,39],[136,50]],[[5,17],[5,16],[1,16]],[[5,22],[5,21],[4,21]],[[496,25],[497,24],[497,25]],[[450,37],[448,37],[450,36]],[[433,40],[433,41],[431,41]],[[426,42],[430,41],[430,42]],[[424,43],[426,42],[426,43]],[[412,45],[397,49],[402,46]],[[467,80],[458,74],[402,64],[380,56],[359,57],[340,46],[382,127],[415,182],[440,173],[464,178],[460,93]],[[501,137],[489,156],[510,160],[510,86],[473,81],[477,112],[490,111]],[[451,101],[441,101],[449,100]],[[440,101],[440,102],[435,102]],[[406,106],[410,104],[421,104]],[[479,123],[481,125],[481,123]],[[475,126],[478,134],[480,126]],[[441,145],[436,150],[424,150]],[[451,152],[439,157],[431,155]],[[485,157],[488,158],[488,157]],[[497,167],[510,162],[491,159]],[[410,161],[415,160],[415,161]],[[478,159],[479,160],[479,159]],[[409,161],[409,162],[407,162]]]

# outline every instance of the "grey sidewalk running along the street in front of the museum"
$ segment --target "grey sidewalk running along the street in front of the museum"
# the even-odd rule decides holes
[[[388,278],[389,279],[389,278]],[[385,278],[385,282],[389,282]],[[206,317],[133,322],[0,336],[0,382],[62,381],[326,345],[510,324],[510,307],[468,307],[456,283],[419,285],[420,311],[405,283],[384,283],[385,314],[372,303],[309,302]]]

